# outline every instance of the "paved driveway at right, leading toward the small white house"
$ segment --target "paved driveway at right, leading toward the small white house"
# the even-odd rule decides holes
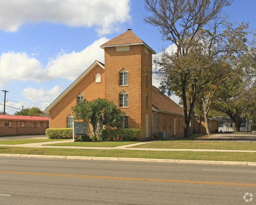
[[[233,142],[256,142],[256,132],[250,133],[222,133],[211,135],[197,141],[233,141]]]

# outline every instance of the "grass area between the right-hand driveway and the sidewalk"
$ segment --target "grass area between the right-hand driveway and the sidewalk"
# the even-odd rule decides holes
[[[136,148],[166,149],[210,149],[210,150],[256,150],[256,143],[251,142],[202,142],[189,140],[157,141],[135,145]]]

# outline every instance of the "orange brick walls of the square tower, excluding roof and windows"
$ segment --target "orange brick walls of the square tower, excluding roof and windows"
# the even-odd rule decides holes
[[[150,51],[151,52],[151,51]],[[119,71],[128,72],[128,85],[119,85]],[[148,134],[152,124],[152,54],[144,52],[144,45],[130,45],[130,51],[116,51],[115,46],[105,47],[105,98],[119,106],[119,93],[128,94],[128,107],[119,107],[128,115],[129,128],[140,129],[139,140],[145,140],[146,115]],[[148,87],[145,76],[148,73]],[[146,108],[146,93],[148,108]]]

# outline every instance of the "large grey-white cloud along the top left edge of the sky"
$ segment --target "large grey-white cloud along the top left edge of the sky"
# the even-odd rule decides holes
[[[0,28],[16,32],[26,23],[96,27],[103,35],[131,21],[130,0],[1,0]]]

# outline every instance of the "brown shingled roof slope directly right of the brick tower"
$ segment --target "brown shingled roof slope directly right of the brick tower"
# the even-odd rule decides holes
[[[160,112],[184,115],[183,109],[152,85],[152,106]]]

